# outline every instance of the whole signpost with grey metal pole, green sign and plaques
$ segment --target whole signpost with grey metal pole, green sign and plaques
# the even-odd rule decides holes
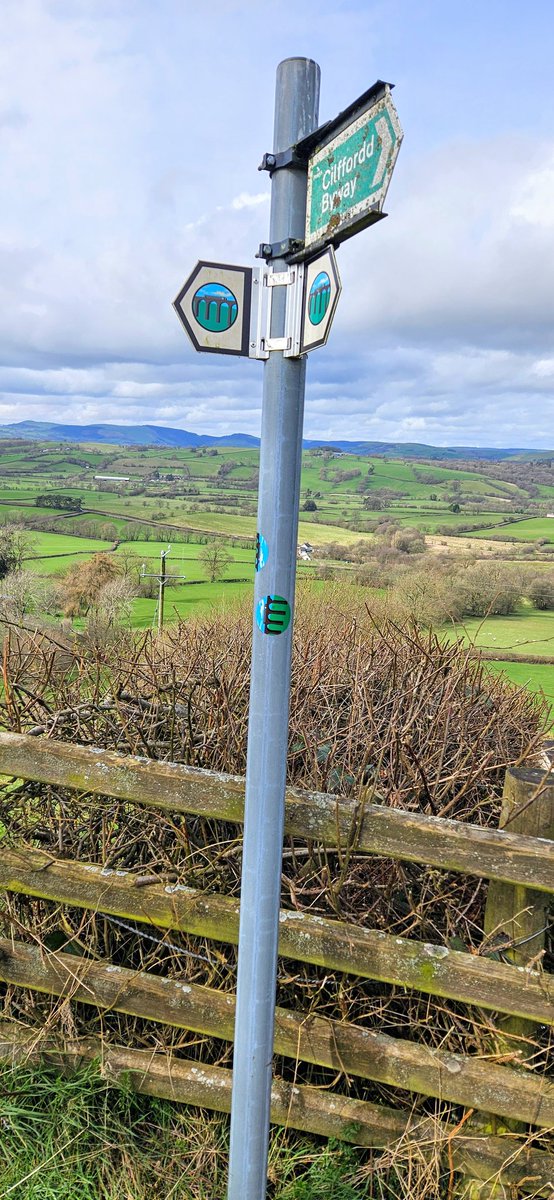
[[[319,77],[277,68],[265,265],[199,262],[174,300],[197,350],[265,361],[228,1200],[266,1195],[306,361],[341,295],[333,247],[384,216],[402,142],[381,80],[318,127]]]

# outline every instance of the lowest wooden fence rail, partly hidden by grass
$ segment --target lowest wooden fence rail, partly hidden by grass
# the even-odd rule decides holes
[[[46,1061],[60,1069],[72,1070],[83,1061],[97,1060],[109,1082],[121,1076],[136,1091],[162,1097],[179,1104],[195,1104],[216,1112],[229,1112],[233,1073],[222,1067],[203,1066],[186,1058],[153,1054],[149,1050],[128,1050],[92,1038],[61,1044],[52,1034],[25,1028],[12,1021],[0,1022],[0,1060],[10,1063]],[[550,1194],[552,1158],[513,1138],[471,1138],[456,1132],[453,1126],[427,1117],[407,1117],[405,1112],[367,1100],[351,1100],[337,1093],[294,1086],[273,1080],[271,1088],[271,1120],[275,1124],[302,1129],[306,1133],[338,1138],[357,1146],[393,1150],[402,1144],[405,1158],[410,1146],[420,1156],[428,1148],[452,1154],[453,1165],[465,1169],[468,1162],[478,1165],[482,1178],[500,1175],[512,1187],[532,1178],[536,1195]]]

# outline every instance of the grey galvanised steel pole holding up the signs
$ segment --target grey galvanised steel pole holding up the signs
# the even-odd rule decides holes
[[[319,77],[311,59],[279,64],[275,154],[317,127]],[[302,239],[305,218],[306,173],[276,170],[270,241]],[[288,269],[283,259],[272,265]],[[271,337],[284,336],[285,293],[273,288]],[[305,383],[305,358],[271,352],[261,412],[228,1200],[266,1195]]]

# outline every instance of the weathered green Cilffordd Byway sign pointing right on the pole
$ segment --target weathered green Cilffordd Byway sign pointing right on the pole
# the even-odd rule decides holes
[[[389,85],[308,161],[306,248],[338,244],[379,220],[403,132]]]

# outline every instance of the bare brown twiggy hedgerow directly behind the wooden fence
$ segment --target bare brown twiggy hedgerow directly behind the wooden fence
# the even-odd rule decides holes
[[[121,644],[86,655],[46,635],[11,630],[5,648],[6,728],[121,754],[173,760],[243,774],[249,689],[251,620],[211,617],[169,626],[163,636],[126,635]],[[294,635],[288,778],[296,786],[363,796],[408,811],[496,826],[506,768],[537,751],[546,706],[524,689],[489,676],[475,652],[432,632],[387,620],[383,602],[361,610],[342,584],[325,601],[300,607]],[[155,814],[113,799],[78,797],[26,784],[6,793],[0,821],[12,844],[116,869],[168,875],[189,887],[237,896],[241,841],[236,826]],[[379,856],[288,840],[283,906],[386,930],[396,936],[465,947],[483,941],[486,884]],[[199,938],[173,934],[171,946],[144,941],[103,916],[12,896],[2,934],[32,930],[43,944],[74,938],[115,964],[177,972],[231,991],[235,950],[209,954]],[[155,935],[156,930],[151,930]],[[60,942],[61,937],[61,942]],[[175,942],[204,960],[182,959]],[[10,990],[10,1012],[59,1024],[59,1001]],[[278,1002],[287,1008],[363,1022],[396,1037],[465,1054],[489,1052],[493,1018],[453,1001],[361,980],[313,965],[283,962]],[[65,1015],[64,1015],[65,1014]],[[121,1013],[76,1006],[79,1031],[128,1045],[173,1046],[206,1062],[227,1062],[227,1043],[161,1028]],[[537,1036],[534,1068],[549,1061],[548,1033]],[[294,1078],[386,1104],[414,1097],[385,1085],[341,1079],[319,1067],[279,1058]],[[444,1110],[416,1102],[422,1112]],[[456,1114],[454,1114],[456,1115]]]

